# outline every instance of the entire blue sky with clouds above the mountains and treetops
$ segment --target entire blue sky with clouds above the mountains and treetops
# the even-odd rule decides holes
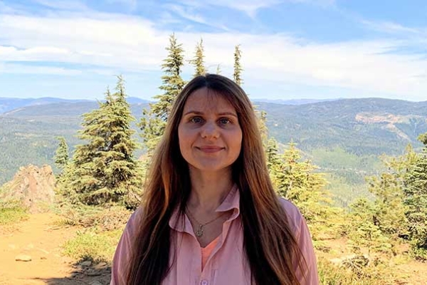
[[[102,99],[161,92],[169,36],[188,61],[271,100],[427,100],[426,0],[0,0],[0,97]]]

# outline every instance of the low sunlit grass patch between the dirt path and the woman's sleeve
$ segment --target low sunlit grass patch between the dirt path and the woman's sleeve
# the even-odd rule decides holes
[[[79,231],[63,245],[64,254],[76,260],[111,263],[121,234],[122,229],[99,233],[94,229]]]

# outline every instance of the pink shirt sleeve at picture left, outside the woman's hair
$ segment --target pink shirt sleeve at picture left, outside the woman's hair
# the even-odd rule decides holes
[[[135,237],[135,225],[137,224],[137,211],[135,211],[127,221],[125,230],[120,237],[119,244],[112,259],[111,281],[110,285],[125,285],[126,267],[130,259],[132,239]]]

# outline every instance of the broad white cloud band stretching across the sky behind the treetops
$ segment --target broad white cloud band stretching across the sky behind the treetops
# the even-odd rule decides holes
[[[74,14],[60,16],[0,17],[0,63],[40,62],[41,68],[28,72],[77,75],[78,71],[43,67],[51,61],[95,66],[83,73],[120,74],[159,71],[167,51],[168,33],[154,24],[117,14]],[[285,34],[176,33],[184,43],[186,59],[202,37],[206,66],[215,72],[218,63],[231,76],[233,50],[241,44],[246,86],[275,84],[286,86],[332,86],[352,88],[360,93],[411,95],[423,99],[427,93],[427,59],[421,56],[389,53],[399,41],[347,41],[320,44]],[[8,63],[9,64],[9,63]],[[24,72],[25,65],[3,67],[2,72]],[[192,73],[191,67],[186,71]]]

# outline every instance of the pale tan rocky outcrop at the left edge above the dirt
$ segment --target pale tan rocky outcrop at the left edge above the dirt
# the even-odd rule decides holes
[[[49,165],[21,167],[14,179],[2,187],[4,192],[1,199],[17,200],[31,212],[40,212],[41,207],[53,203],[55,182],[55,175]]]

